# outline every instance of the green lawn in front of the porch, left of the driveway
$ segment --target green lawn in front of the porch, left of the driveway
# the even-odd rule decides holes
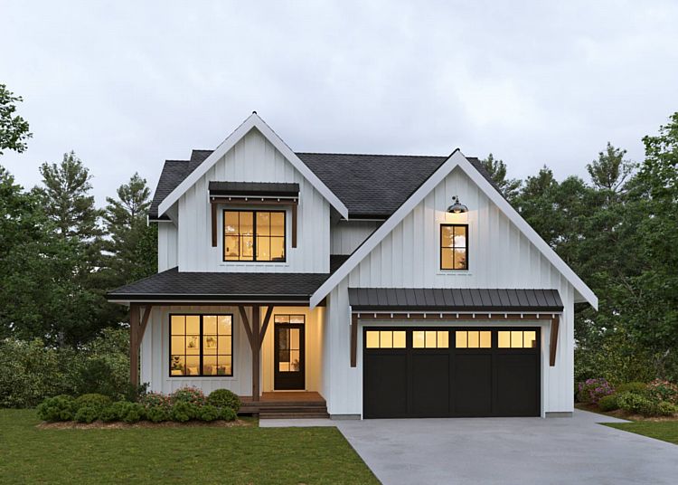
[[[33,410],[0,410],[2,483],[379,483],[335,428],[38,423]]]

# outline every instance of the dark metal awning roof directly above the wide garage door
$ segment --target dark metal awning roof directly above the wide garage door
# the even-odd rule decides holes
[[[558,290],[349,288],[355,310],[562,311]]]

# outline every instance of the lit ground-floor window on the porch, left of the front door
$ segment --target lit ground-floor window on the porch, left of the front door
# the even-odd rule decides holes
[[[233,376],[233,316],[171,315],[170,376]]]

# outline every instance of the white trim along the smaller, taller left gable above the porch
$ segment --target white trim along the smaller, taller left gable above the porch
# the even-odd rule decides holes
[[[221,142],[221,145],[217,147],[212,154],[205,158],[205,160],[198,166],[193,173],[184,178],[184,181],[177,185],[174,190],[165,197],[165,200],[160,203],[158,206],[158,215],[165,214],[175,204],[179,198],[184,195],[184,193],[193,186],[202,176],[204,176],[207,171],[212,168],[212,166],[219,161],[221,157],[226,155],[226,153],[235,146],[236,143],[240,141],[245,135],[247,135],[252,128],[257,128],[259,132],[268,139],[268,141],[278,149],[278,151],[286,157],[287,160],[301,173],[302,176],[306,177],[311,185],[315,187],[321,195],[325,197],[327,202],[329,202],[334,209],[341,214],[344,219],[348,219],[348,208],[344,203],[339,200],[339,197],[334,195],[334,193],[320,180],[314,173],[311,171],[308,166],[297,157],[297,154],[292,151],[290,147],[287,147],[287,144],[273,131],[263,119],[259,118],[259,115],[255,112],[250,115],[248,119],[242,122],[240,127],[236,128],[235,131],[231,133],[225,140]]]

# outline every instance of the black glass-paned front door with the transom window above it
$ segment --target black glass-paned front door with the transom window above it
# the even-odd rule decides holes
[[[306,389],[304,315],[276,315],[274,387]]]

